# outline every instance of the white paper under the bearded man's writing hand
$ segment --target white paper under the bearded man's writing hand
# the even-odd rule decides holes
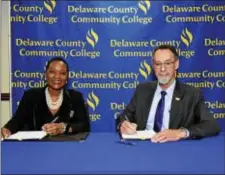
[[[122,134],[122,137],[123,139],[151,139],[155,134],[153,130],[143,130],[135,134]]]

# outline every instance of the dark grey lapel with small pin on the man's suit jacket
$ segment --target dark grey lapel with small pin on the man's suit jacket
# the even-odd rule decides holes
[[[179,116],[181,112],[181,100],[183,98],[184,92],[180,87],[180,83],[177,81],[176,86],[173,93],[171,111],[170,111],[170,122],[169,129],[176,129],[179,126],[180,121],[182,120],[182,116]]]

